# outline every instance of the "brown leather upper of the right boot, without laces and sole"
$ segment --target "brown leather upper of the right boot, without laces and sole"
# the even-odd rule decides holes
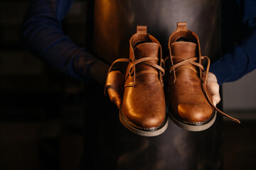
[[[188,58],[198,56],[196,44],[193,42],[174,42],[171,44],[171,59],[174,64]],[[198,68],[190,63],[183,64],[169,74],[169,91],[167,97],[171,98],[171,109],[188,123],[205,122],[213,114],[213,108],[203,93]]]

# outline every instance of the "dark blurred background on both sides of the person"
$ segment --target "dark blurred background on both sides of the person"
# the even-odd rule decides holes
[[[0,169],[80,169],[83,85],[31,55],[20,30],[28,0],[0,1]],[[65,33],[85,42],[86,2],[77,0]],[[256,72],[223,85],[224,169],[256,169]]]

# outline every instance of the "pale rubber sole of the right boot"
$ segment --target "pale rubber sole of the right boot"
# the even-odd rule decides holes
[[[181,121],[177,120],[174,117],[174,115],[172,115],[169,111],[169,117],[176,125],[183,128],[184,130],[188,130],[188,131],[192,131],[192,132],[200,132],[200,131],[207,130],[208,128],[210,128],[216,120],[216,115],[217,115],[217,112],[214,111],[213,118],[211,118],[207,123],[204,123],[203,125],[188,125],[186,123],[182,123]]]

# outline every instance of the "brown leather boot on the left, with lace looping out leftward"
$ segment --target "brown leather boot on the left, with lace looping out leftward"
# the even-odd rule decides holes
[[[129,59],[114,62],[129,62],[119,118],[127,129],[138,135],[160,135],[168,126],[161,45],[146,33],[146,26],[137,26],[129,45]]]

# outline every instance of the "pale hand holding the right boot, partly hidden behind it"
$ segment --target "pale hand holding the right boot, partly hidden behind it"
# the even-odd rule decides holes
[[[213,104],[216,106],[220,102],[220,86],[217,78],[211,72],[208,72],[207,86],[213,98]]]

